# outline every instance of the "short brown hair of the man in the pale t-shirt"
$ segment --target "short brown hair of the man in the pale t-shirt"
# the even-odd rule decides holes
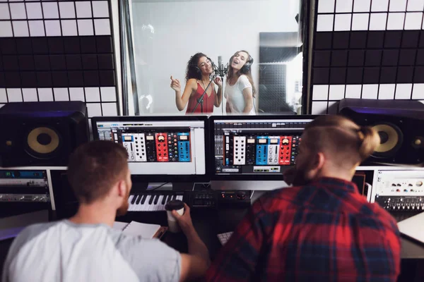
[[[69,158],[68,180],[79,202],[90,204],[105,197],[125,178],[128,164],[124,147],[98,140],[78,147]]]

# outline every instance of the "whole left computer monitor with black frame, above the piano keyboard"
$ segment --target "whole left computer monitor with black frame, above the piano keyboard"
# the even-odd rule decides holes
[[[102,116],[92,118],[92,125],[95,140],[124,146],[137,180],[208,181],[206,116]]]

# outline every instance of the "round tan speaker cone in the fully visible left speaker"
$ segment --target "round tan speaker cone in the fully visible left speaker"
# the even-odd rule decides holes
[[[60,138],[52,128],[34,128],[28,133],[27,145],[34,157],[49,158],[59,148]]]

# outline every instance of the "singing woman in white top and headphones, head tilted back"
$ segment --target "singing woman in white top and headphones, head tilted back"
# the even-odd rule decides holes
[[[237,51],[228,66],[225,99],[227,114],[256,114],[253,98],[256,95],[252,80],[252,56],[247,51]]]

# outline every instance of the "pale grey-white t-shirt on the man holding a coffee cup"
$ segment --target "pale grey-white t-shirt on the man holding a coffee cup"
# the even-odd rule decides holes
[[[179,252],[158,239],[63,220],[25,228],[11,245],[1,281],[177,282],[180,271]]]

